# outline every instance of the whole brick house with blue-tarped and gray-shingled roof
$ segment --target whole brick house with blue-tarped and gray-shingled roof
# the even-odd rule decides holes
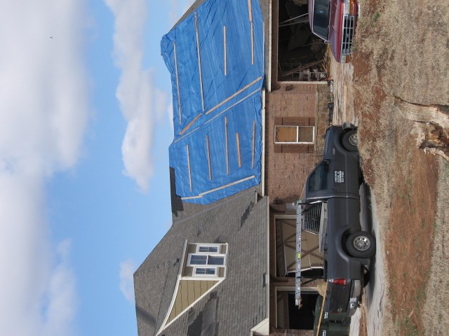
[[[163,37],[173,226],[135,272],[143,335],[312,335],[316,236],[295,202],[330,122],[307,1],[196,1]],[[304,19],[305,18],[305,19]]]

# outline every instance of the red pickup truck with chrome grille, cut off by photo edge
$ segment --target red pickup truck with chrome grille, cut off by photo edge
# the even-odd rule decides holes
[[[357,14],[357,0],[309,0],[310,29],[330,43],[337,62],[349,62]]]

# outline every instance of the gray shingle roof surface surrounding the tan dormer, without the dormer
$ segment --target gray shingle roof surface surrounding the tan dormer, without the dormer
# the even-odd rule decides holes
[[[243,335],[267,318],[267,197],[255,188],[213,204],[183,203],[134,274],[138,335],[156,335],[168,312],[184,241],[227,243],[227,276],[161,335]]]

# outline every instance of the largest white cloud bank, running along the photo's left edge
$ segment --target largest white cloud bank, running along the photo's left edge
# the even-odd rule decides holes
[[[83,6],[22,0],[0,11],[0,335],[72,335],[69,243],[55,255],[45,181],[76,164],[88,120]]]

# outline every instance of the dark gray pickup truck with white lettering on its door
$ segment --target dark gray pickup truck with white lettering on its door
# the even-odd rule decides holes
[[[319,235],[327,279],[323,315],[342,320],[355,313],[375,239],[361,230],[359,189],[363,181],[354,125],[326,131],[323,160],[307,178],[302,229]]]

